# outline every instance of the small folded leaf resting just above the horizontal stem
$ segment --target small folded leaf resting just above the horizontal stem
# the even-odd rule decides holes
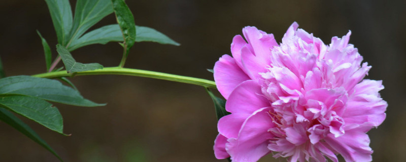
[[[103,66],[98,63],[83,64],[80,62],[76,62],[76,60],[72,57],[71,53],[69,53],[69,51],[67,51],[66,48],[63,47],[62,45],[59,45],[59,44],[56,45],[56,51],[59,53],[60,57],[62,58],[63,64],[65,64],[65,68],[68,73],[103,68]]]

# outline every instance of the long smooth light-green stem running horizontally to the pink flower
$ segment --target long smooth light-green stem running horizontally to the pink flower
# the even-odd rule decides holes
[[[148,70],[121,68],[121,67],[105,67],[103,69],[82,71],[82,72],[75,72],[75,73],[67,73],[66,71],[55,71],[55,72],[35,74],[32,76],[45,77],[45,78],[56,78],[56,77],[64,77],[64,76],[109,75],[109,74],[150,77],[150,78],[156,78],[156,79],[171,80],[171,81],[180,82],[180,83],[193,84],[193,85],[203,86],[203,87],[207,87],[207,88],[216,88],[216,84],[212,80],[189,77],[189,76],[181,76],[181,75],[175,75],[175,74],[168,74],[168,73],[163,73],[163,72],[148,71]]]

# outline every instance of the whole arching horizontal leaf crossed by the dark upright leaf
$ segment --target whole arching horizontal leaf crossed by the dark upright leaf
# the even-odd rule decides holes
[[[167,37],[165,34],[162,34],[161,32],[156,31],[155,29],[150,27],[136,25],[136,31],[136,42],[156,42],[159,44],[168,44],[175,46],[180,45],[171,38]],[[72,42],[68,49],[69,51],[73,51],[87,45],[104,45],[108,42],[122,41],[124,41],[124,39],[120,30],[120,26],[118,24],[106,25],[84,34],[79,39]]]

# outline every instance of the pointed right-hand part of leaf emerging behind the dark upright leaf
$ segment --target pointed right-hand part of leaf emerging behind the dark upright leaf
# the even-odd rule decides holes
[[[179,46],[180,44],[167,37],[165,34],[162,34],[159,31],[156,31],[153,28],[145,26],[137,26],[137,37],[136,42],[156,42],[160,44],[169,44]]]

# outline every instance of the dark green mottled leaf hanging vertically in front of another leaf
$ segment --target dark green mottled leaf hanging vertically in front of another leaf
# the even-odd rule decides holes
[[[116,14],[117,23],[120,26],[124,38],[125,56],[128,55],[129,49],[136,42],[136,23],[134,16],[123,0],[111,0],[113,3],[114,13]]]

